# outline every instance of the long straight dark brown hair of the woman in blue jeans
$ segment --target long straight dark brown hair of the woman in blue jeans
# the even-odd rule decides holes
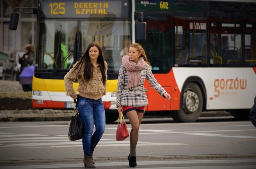
[[[76,64],[76,67],[74,67],[74,70],[75,69],[78,69],[78,67],[82,67],[82,63],[84,63],[84,79],[86,79],[86,81],[89,81],[90,79],[92,79],[92,69],[93,69],[93,65],[91,64],[91,60],[90,60],[90,56],[89,56],[89,50],[91,47],[94,47],[96,46],[99,50],[99,56],[97,58],[97,63],[99,64],[100,66],[100,72],[101,72],[101,75],[102,75],[102,83],[104,84],[105,81],[106,81],[106,75],[105,75],[105,70],[106,70],[106,67],[105,67],[105,59],[104,59],[104,56],[103,56],[103,53],[102,53],[102,49],[100,47],[100,43],[98,42],[92,42],[88,45],[84,55],[82,55],[82,57],[80,58],[80,60],[77,62]]]

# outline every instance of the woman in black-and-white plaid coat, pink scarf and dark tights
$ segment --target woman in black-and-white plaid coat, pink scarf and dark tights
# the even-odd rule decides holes
[[[133,43],[129,48],[129,56],[122,58],[116,90],[118,113],[124,112],[132,125],[130,154],[128,156],[130,167],[136,167],[137,165],[136,145],[139,137],[139,127],[145,112],[145,106],[148,105],[147,89],[144,88],[146,78],[163,98],[170,100],[170,94],[154,78],[144,49],[138,43]]]

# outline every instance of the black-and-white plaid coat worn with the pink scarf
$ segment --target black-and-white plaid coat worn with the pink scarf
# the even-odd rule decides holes
[[[146,65],[142,70],[140,70],[140,75],[142,77],[142,84],[137,85],[133,88],[127,88],[128,84],[128,74],[127,70],[123,65],[121,65],[118,75],[118,83],[116,90],[116,107],[118,106],[133,106],[140,107],[148,105],[148,98],[146,96],[147,89],[144,88],[145,79],[148,79],[150,85],[162,96],[166,91],[164,88],[156,81],[149,65]]]

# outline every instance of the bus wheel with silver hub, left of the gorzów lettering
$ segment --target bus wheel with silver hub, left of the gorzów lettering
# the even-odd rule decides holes
[[[182,108],[172,112],[176,122],[195,122],[203,108],[203,96],[196,83],[188,83],[183,92]]]

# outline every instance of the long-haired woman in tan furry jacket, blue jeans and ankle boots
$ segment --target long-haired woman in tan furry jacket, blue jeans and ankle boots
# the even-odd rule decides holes
[[[95,168],[92,153],[106,127],[102,96],[106,94],[107,63],[98,42],[88,45],[84,55],[65,75],[66,94],[77,99],[77,107],[84,125],[82,138],[84,167]],[[78,94],[73,82],[78,79]],[[95,132],[92,134],[95,124]]]

